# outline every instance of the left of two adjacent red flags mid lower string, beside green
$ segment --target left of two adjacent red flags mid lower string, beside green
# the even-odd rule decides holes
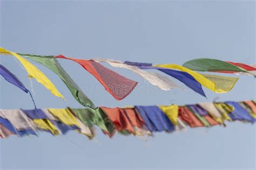
[[[110,120],[116,126],[116,129],[118,131],[125,130],[132,134],[135,134],[135,131],[132,128],[131,122],[126,117],[124,112],[120,111],[119,108],[100,107],[100,109],[102,109],[107,114],[107,116],[109,116]]]

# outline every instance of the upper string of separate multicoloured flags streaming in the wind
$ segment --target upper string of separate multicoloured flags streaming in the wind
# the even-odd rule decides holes
[[[0,47],[0,55],[1,54],[14,55],[15,58],[22,63],[23,67],[26,69],[26,72],[28,72],[29,77],[35,78],[39,83],[43,84],[45,88],[50,90],[53,95],[61,97],[64,100],[64,97],[62,96],[62,94],[59,93],[57,88],[48,79],[48,77],[46,77],[37,67],[33,66],[32,63],[30,63],[25,58],[41,63],[43,66],[49,68],[50,70],[52,70],[52,72],[54,72],[60,77],[60,79],[65,83],[65,85],[70,90],[73,97],[80,104],[82,104],[84,107],[89,107],[95,110],[97,109],[97,107],[83,93],[83,91],[77,86],[77,84],[71,79],[68,73],[65,72],[65,69],[57,61],[58,59],[66,59],[66,60],[72,60],[74,62],[77,62],[80,66],[86,69],[90,74],[95,76],[96,79],[105,87],[105,89],[114,98],[116,98],[116,100],[122,100],[127,95],[129,95],[131,91],[137,86],[138,82],[133,81],[131,79],[127,79],[126,77],[119,75],[116,72],[113,72],[111,69],[108,69],[103,65],[101,65],[100,62],[107,62],[112,67],[125,68],[125,69],[132,70],[132,72],[143,77],[143,79],[149,81],[153,86],[157,86],[160,89],[172,90],[173,88],[177,88],[177,89],[183,90],[183,88],[181,88],[180,86],[172,82],[172,80],[169,79],[170,77],[166,77],[159,73],[149,72],[148,70],[146,70],[146,69],[157,69],[162,73],[165,73],[171,77],[174,77],[174,79],[179,80],[180,82],[184,83],[188,88],[191,88],[196,93],[205,97],[206,95],[203,91],[202,86],[214,91],[215,93],[227,93],[234,87],[235,83],[238,81],[238,78],[226,77],[226,76],[220,76],[220,75],[199,74],[194,70],[204,71],[204,72],[207,71],[207,72],[218,72],[218,73],[250,74],[250,75],[256,76],[255,65],[249,66],[244,63],[220,61],[215,59],[196,59],[196,60],[187,61],[184,63],[183,66],[180,66],[175,64],[153,65],[152,63],[130,62],[130,61],[125,61],[123,63],[121,61],[111,60],[111,59],[84,60],[84,59],[69,58],[63,55],[43,56],[43,55],[34,55],[34,54],[21,54],[21,53],[11,52]],[[12,74],[10,71],[7,72],[6,68],[4,68],[4,66],[2,65],[0,66],[0,74],[4,76],[5,80],[21,88],[26,93],[30,93],[28,89],[25,89],[24,85],[18,79],[16,79],[17,77],[14,74]],[[247,110],[250,109],[250,106],[248,106],[248,104],[245,104],[245,107]],[[223,112],[223,110],[219,110],[219,112]],[[104,113],[103,116],[106,116],[106,114]],[[198,118],[201,118],[199,116]],[[254,117],[255,115],[252,115],[252,116]],[[224,117],[222,118],[225,119]],[[226,119],[228,119],[227,115],[226,115]],[[219,120],[217,122],[221,123]],[[55,123],[59,123],[59,122],[55,122]],[[108,133],[107,131],[104,131],[104,132]]]

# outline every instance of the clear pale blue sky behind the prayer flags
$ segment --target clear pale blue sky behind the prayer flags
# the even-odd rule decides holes
[[[64,54],[83,59],[111,58],[177,63],[195,58],[255,63],[254,1],[0,1],[1,46],[20,53]],[[24,69],[12,56],[1,64],[31,89]],[[255,79],[240,76],[228,94],[204,88],[207,99],[186,88],[154,88],[129,70],[111,68],[139,82],[124,100],[116,101],[82,67],[59,60],[96,105],[188,104],[255,99]],[[38,65],[66,98],[52,96],[32,80],[38,108],[82,108],[64,83]],[[230,75],[228,75],[230,76]],[[29,95],[3,79],[0,107],[32,109]],[[144,89],[144,90],[142,90]],[[97,131],[95,140],[70,132],[65,137],[0,140],[0,169],[255,169],[255,125],[228,123],[227,128],[156,133],[147,140]]]

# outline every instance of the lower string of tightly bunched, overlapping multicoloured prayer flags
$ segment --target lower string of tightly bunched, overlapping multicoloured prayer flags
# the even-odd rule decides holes
[[[97,109],[1,109],[0,137],[23,137],[49,132],[53,136],[73,130],[95,137],[95,125],[109,137],[119,134],[153,136],[155,132],[175,132],[191,128],[211,128],[225,121],[255,123],[254,101],[198,103],[187,105],[134,106]]]

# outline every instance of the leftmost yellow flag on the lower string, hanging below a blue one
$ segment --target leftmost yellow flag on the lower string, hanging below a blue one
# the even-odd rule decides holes
[[[38,129],[50,131],[55,136],[59,134],[59,130],[48,119],[33,119],[33,123],[35,123]]]

